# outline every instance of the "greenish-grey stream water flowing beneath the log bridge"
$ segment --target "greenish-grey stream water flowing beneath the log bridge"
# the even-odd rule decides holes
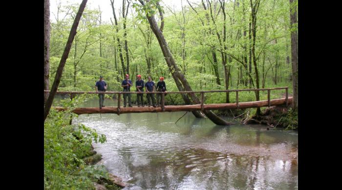
[[[97,107],[98,99],[83,106]],[[73,124],[107,136],[93,146],[125,190],[298,189],[298,133],[230,118],[235,125],[217,126],[191,112],[175,124],[183,114],[82,114]]]

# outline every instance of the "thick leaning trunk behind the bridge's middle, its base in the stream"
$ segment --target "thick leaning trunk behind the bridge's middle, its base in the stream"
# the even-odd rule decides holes
[[[141,4],[145,4],[143,2],[143,0],[139,0],[141,2]],[[149,20],[150,23],[150,27],[154,33],[154,35],[156,36],[156,38],[158,39],[160,48],[163,52],[163,55],[165,57],[165,60],[169,66],[169,69],[171,71],[171,74],[173,76],[173,79],[179,79],[179,81],[182,83],[184,90],[185,91],[192,91],[187,79],[185,78],[185,76],[183,75],[183,73],[180,71],[180,69],[178,68],[177,64],[175,63],[169,46],[164,38],[164,35],[162,34],[161,29],[158,27],[156,20],[154,19],[153,15],[150,15],[147,13],[146,14],[147,19]],[[163,25],[163,23],[162,23]],[[190,93],[189,94],[190,97],[192,98],[192,103],[198,104],[200,101],[198,100],[198,98],[194,95],[194,93]],[[203,113],[210,119],[212,120],[216,125],[230,125],[231,123],[228,123],[227,121],[223,120],[222,118],[218,117],[216,114],[214,114],[212,111],[203,111]]]

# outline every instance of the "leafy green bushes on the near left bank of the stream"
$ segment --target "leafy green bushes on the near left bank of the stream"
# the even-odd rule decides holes
[[[72,101],[64,100],[62,103],[65,107],[73,108],[82,101],[85,101],[85,96]],[[94,154],[91,143],[104,143],[106,136],[82,124],[69,125],[70,114],[70,109],[59,113],[52,109],[44,122],[45,189],[90,190],[94,189],[93,182],[108,178],[104,166],[86,164],[88,156]]]

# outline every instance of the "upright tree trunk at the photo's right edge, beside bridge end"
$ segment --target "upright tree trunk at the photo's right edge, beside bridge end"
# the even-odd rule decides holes
[[[290,7],[293,6],[293,1],[290,0]],[[292,85],[293,85],[293,109],[298,108],[298,34],[297,29],[293,30],[292,27],[297,25],[297,8],[290,9],[291,21],[291,62],[292,62]]]

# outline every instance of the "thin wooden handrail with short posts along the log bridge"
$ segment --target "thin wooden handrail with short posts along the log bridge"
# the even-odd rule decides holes
[[[118,95],[118,113],[120,114],[120,102],[121,94],[161,94],[161,109],[164,112],[165,109],[165,94],[201,94],[201,110],[204,108],[204,94],[205,93],[236,93],[236,109],[239,108],[238,93],[243,91],[267,91],[268,107],[271,106],[271,91],[285,89],[285,103],[288,106],[288,87],[278,87],[278,88],[263,88],[263,89],[235,89],[235,90],[213,90],[213,91],[178,91],[178,92],[84,92],[84,91],[57,91],[57,94],[70,94],[72,99],[76,94],[117,94]],[[44,90],[44,93],[49,93],[50,91]]]

